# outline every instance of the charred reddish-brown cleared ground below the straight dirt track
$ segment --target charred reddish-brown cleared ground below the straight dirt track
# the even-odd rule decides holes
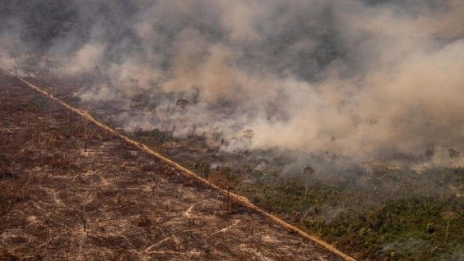
[[[0,260],[339,260],[0,75]]]

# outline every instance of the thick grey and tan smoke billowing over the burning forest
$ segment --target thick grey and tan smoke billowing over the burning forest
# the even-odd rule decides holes
[[[39,52],[55,74],[93,75],[83,100],[143,97],[116,116],[129,130],[250,128],[255,148],[360,160],[464,151],[462,0],[0,3],[1,67]]]

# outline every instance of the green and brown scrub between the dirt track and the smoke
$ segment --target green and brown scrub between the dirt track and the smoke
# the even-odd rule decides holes
[[[464,200],[449,189],[462,191],[463,168],[430,168],[417,174],[408,167],[380,164],[369,174],[349,166],[317,175],[315,167],[305,199],[303,169],[284,171],[283,166],[292,163],[291,156],[285,156],[289,153],[225,153],[217,148],[198,152],[194,148],[203,145],[201,137],[175,139],[159,130],[138,131],[135,138],[211,182],[233,180],[235,192],[358,259],[464,258]],[[165,146],[173,142],[175,148]],[[266,167],[258,168],[260,162]]]

